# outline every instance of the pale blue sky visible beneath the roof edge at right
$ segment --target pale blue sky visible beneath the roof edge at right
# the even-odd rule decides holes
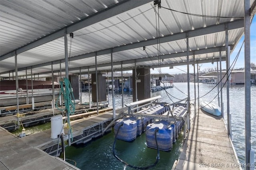
[[[256,64],[256,17],[252,20],[251,27],[250,27],[250,63]],[[230,55],[230,65],[234,61],[236,55],[238,54],[238,51],[244,41],[244,35],[241,37],[240,41],[236,45],[235,49],[233,50],[232,54]],[[202,65],[202,66],[201,66]],[[194,68],[192,65],[190,66],[189,72],[194,72]],[[217,63],[204,63],[199,64],[200,70],[204,70],[205,68],[214,68],[217,67]],[[238,60],[234,66],[234,68],[244,68],[244,46],[242,47],[242,50],[240,52],[240,55],[238,57]],[[222,69],[226,69],[226,62],[222,61]],[[183,70],[183,71],[182,71]],[[159,73],[156,69],[152,70],[150,69],[151,73]],[[169,69],[169,67],[161,68],[162,73],[170,73],[170,74],[180,74],[180,73],[186,73],[187,72],[187,66],[174,66],[174,68]]]

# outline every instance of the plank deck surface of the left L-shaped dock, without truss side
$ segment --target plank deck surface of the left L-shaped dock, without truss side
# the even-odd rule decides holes
[[[116,109],[116,116],[126,111],[127,107]],[[84,118],[72,125],[73,137],[81,135],[86,129],[111,121],[112,111]],[[102,130],[102,129],[101,129]],[[65,134],[68,132],[65,131]],[[18,138],[0,127],[0,170],[47,169],[77,170],[78,168],[64,162],[60,158],[50,156],[43,149],[58,144],[58,139],[51,139],[51,130]],[[68,135],[64,140],[68,139]]]

